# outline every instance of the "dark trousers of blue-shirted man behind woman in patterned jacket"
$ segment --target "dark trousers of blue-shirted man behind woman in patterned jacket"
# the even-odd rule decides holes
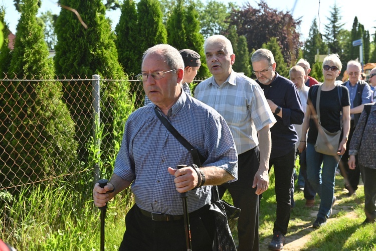
[[[344,152],[344,154],[342,155],[341,157],[341,160],[339,162],[339,168],[341,170],[341,173],[342,172],[345,172],[345,174],[347,175],[347,181],[348,181],[348,184],[345,183],[345,188],[350,192],[350,193],[353,193],[356,191],[356,189],[358,189],[358,185],[359,185],[359,178],[360,178],[360,168],[358,166],[358,156],[355,155],[355,169],[354,170],[351,170],[350,168],[348,168],[348,150],[350,149],[350,141],[351,141],[351,138],[352,138],[352,135],[354,133],[354,130],[355,130],[355,126],[354,126],[354,120],[351,120],[350,121],[350,132],[348,134],[348,141],[347,141],[347,144],[346,144],[346,151]],[[342,173],[342,176],[345,177],[345,175]]]

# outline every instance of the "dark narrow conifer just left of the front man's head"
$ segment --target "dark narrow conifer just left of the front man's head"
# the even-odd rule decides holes
[[[139,73],[139,51],[137,50],[140,33],[137,26],[137,11],[134,0],[125,0],[121,6],[119,23],[115,28],[116,48],[119,54],[119,63],[128,75]]]

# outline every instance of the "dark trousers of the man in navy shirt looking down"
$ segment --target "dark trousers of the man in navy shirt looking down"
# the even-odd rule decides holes
[[[269,171],[274,168],[274,191],[277,201],[276,220],[274,221],[273,232],[280,231],[287,233],[291,213],[291,179],[294,170],[295,147],[280,157],[272,158],[269,162]]]

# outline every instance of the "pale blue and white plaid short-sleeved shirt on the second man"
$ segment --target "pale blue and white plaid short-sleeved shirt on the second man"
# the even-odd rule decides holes
[[[195,97],[225,118],[238,154],[256,147],[259,144],[257,131],[268,124],[272,127],[276,122],[260,86],[234,71],[220,86],[214,77],[201,82],[196,87]]]

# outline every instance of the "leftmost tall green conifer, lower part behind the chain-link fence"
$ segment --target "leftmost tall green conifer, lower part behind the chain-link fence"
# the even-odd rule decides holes
[[[54,69],[37,24],[38,0],[24,0],[17,26],[15,49],[10,64],[11,79],[2,121],[2,186],[34,182],[77,167],[74,122],[61,97],[61,84],[53,79]],[[18,81],[16,79],[28,79]],[[3,117],[3,115],[1,115]],[[16,166],[15,166],[16,165]],[[11,170],[12,167],[12,170]]]

